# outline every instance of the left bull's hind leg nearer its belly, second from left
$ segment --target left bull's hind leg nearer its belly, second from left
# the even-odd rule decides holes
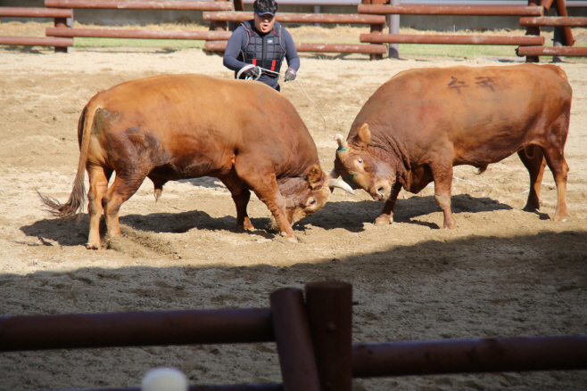
[[[103,197],[104,216],[106,218],[106,226],[108,228],[108,235],[111,238],[121,236],[119,223],[119,210],[122,203],[128,200],[136,193],[138,188],[143,183],[145,176],[140,177],[140,180],[134,179],[128,181],[123,179],[120,175],[116,175],[116,179],[112,186]]]

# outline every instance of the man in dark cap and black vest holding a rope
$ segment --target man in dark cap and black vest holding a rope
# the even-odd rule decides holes
[[[255,0],[252,7],[254,19],[241,23],[230,37],[223,63],[235,71],[235,77],[241,70],[240,78],[260,75],[260,82],[279,91],[279,69],[284,57],[288,66],[285,81],[295,79],[300,57],[292,36],[275,20],[275,0]]]

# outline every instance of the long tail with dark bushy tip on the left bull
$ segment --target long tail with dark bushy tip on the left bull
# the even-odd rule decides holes
[[[93,104],[93,101],[87,103],[81,113],[78,122],[79,144],[79,163],[78,172],[73,182],[73,190],[70,193],[70,199],[64,204],[54,198],[42,195],[37,191],[41,201],[48,208],[48,211],[57,217],[64,219],[80,218],[80,212],[86,207],[86,186],[84,179],[86,176],[87,155],[90,146],[90,135],[92,134],[92,124],[94,123],[95,111],[98,110],[99,104]]]

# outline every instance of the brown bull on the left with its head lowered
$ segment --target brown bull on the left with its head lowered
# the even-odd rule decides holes
[[[56,216],[76,216],[84,208],[87,170],[88,248],[101,247],[102,214],[108,234],[120,236],[120,205],[145,177],[153,181],[155,200],[168,181],[219,178],[235,201],[236,224],[246,230],[253,229],[246,212],[252,190],[290,241],[296,241],[291,224],[324,207],[329,186],[347,186],[322,172],[302,118],[282,94],[262,83],[202,75],[128,81],[87,103],[78,140],[70,199],[63,205],[41,199]]]

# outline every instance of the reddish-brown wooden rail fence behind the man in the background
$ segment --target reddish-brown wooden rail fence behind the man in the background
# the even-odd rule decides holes
[[[360,35],[360,43],[349,44],[296,44],[298,52],[313,53],[366,53],[371,59],[381,59],[388,52],[385,44],[434,44],[434,45],[514,45],[517,55],[526,56],[526,61],[539,61],[542,55],[587,56],[587,48],[572,48],[575,40],[570,27],[587,26],[587,18],[566,16],[564,0],[528,0],[527,6],[517,5],[393,5],[375,4],[385,0],[363,0],[357,14],[325,13],[277,13],[276,19],[290,23],[337,23],[366,24],[369,34]],[[374,4],[370,4],[373,2]],[[545,17],[544,11],[555,4],[559,17]],[[226,49],[231,32],[227,22],[252,19],[252,12],[244,12],[243,1],[185,1],[185,0],[45,0],[47,8],[0,7],[0,16],[53,17],[54,28],[45,29],[46,37],[0,37],[0,45],[45,45],[54,46],[55,51],[67,52],[73,45],[73,37],[118,37],[142,39],[196,39],[206,41],[204,48],[222,53]],[[73,10],[125,9],[125,10],[193,10],[203,11],[203,19],[211,23],[210,31],[153,31],[145,29],[71,29],[66,18],[73,17]],[[235,10],[240,11],[233,11]],[[520,25],[526,28],[521,37],[480,35],[409,35],[384,34],[386,15],[483,15],[520,16]],[[541,27],[562,29],[565,47],[545,46]]]

